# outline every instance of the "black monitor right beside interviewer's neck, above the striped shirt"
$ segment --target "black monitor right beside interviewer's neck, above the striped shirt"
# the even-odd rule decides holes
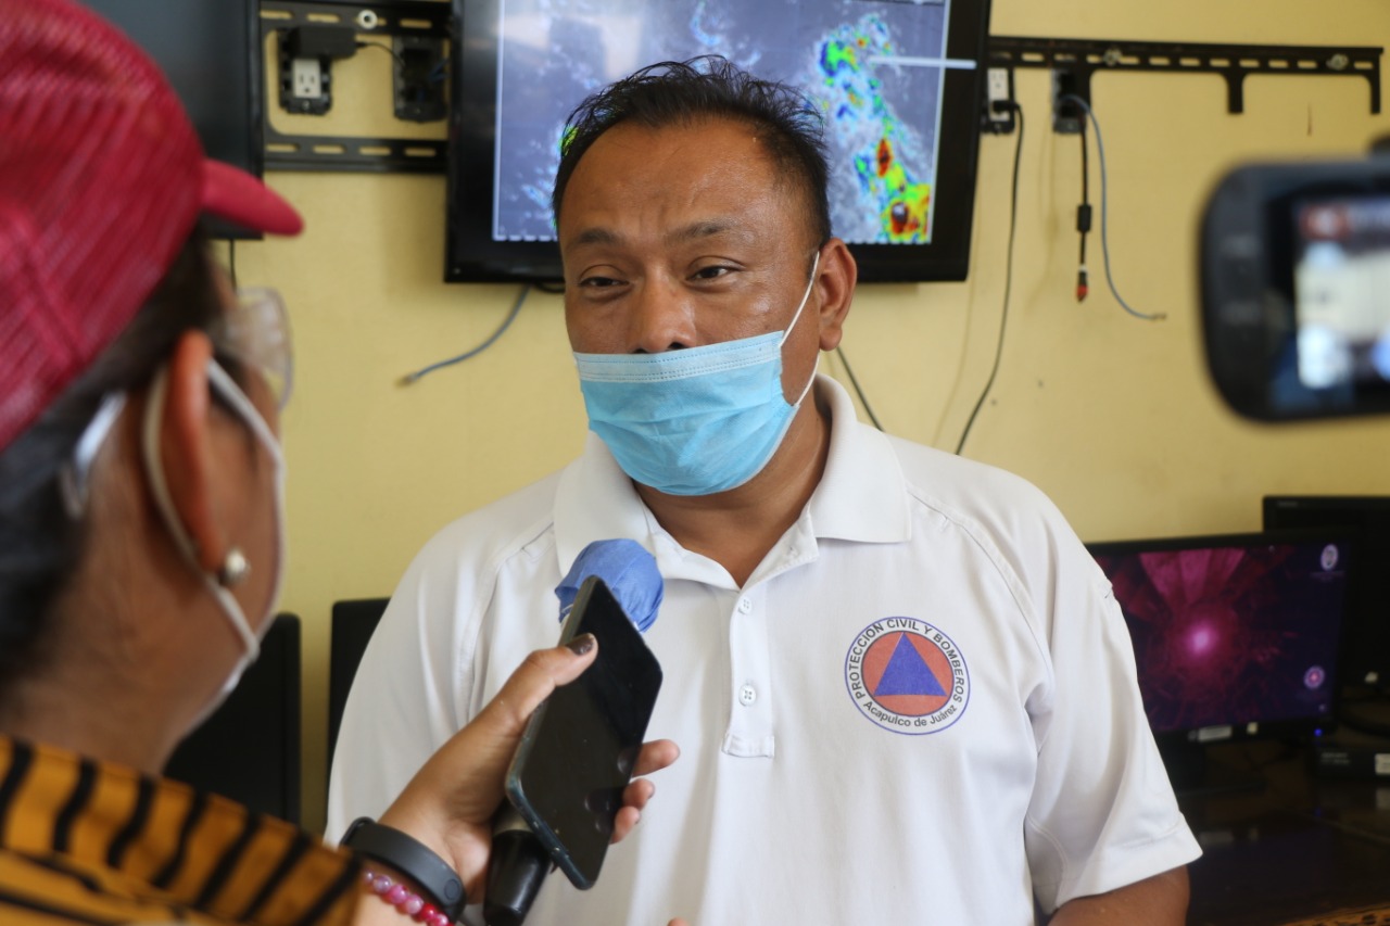
[[[164,774],[299,823],[302,677],[299,617],[279,615],[265,631],[260,659],[179,744]]]

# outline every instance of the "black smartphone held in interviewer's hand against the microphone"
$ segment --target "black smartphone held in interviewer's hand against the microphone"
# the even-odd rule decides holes
[[[580,587],[560,642],[582,634],[598,638],[598,658],[531,716],[506,791],[560,870],[588,890],[646,737],[662,666],[596,576]]]

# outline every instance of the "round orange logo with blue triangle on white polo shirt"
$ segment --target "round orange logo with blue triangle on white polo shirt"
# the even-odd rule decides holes
[[[860,630],[845,653],[845,685],[866,717],[910,736],[945,730],[970,701],[965,656],[916,617],[883,617]]]

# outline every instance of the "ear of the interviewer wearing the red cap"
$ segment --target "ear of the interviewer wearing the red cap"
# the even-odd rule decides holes
[[[185,331],[170,355],[168,387],[160,421],[160,459],[175,516],[183,523],[197,564],[215,573],[225,555],[213,509],[211,398],[207,362],[213,342]]]

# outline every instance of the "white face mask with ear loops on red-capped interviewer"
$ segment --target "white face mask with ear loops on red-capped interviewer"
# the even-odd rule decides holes
[[[227,681],[222,684],[221,690],[208,701],[207,705],[199,712],[197,717],[190,724],[190,730],[197,727],[203,720],[207,719],[227,695],[232,692],[236,683],[240,681],[242,673],[246,672],[246,666],[256,662],[260,656],[260,641],[270,630],[271,619],[275,610],[275,602],[279,599],[279,585],[284,576],[284,559],[285,559],[285,457],[279,449],[279,442],[275,439],[274,432],[265,420],[252,405],[246,393],[242,392],[240,387],[227,374],[222,367],[217,364],[215,360],[207,362],[207,380],[214,389],[227,400],[229,406],[240,416],[242,421],[252,430],[256,439],[260,441],[265,453],[271,459],[271,464],[275,467],[275,562],[272,569],[275,570],[274,578],[271,580],[271,595],[270,601],[265,603],[265,613],[257,624],[259,631],[252,631],[250,623],[246,620],[246,615],[242,612],[240,603],[236,598],[218,583],[214,573],[206,571],[197,562],[197,551],[193,546],[192,538],[179,520],[178,513],[174,510],[174,501],[170,498],[168,481],[164,476],[164,463],[160,456],[160,425],[164,416],[164,402],[168,393],[168,368],[163,367],[150,384],[149,399],[145,405],[145,423],[142,431],[142,448],[145,455],[145,471],[149,476],[150,492],[154,496],[154,503],[160,509],[160,514],[164,519],[164,526],[168,528],[170,535],[174,538],[174,545],[178,546],[183,559],[188,560],[199,576],[203,578],[203,584],[211,592],[213,599],[221,608],[227,620],[231,622],[232,628],[242,641],[242,656],[236,660],[236,666],[228,674]]]

